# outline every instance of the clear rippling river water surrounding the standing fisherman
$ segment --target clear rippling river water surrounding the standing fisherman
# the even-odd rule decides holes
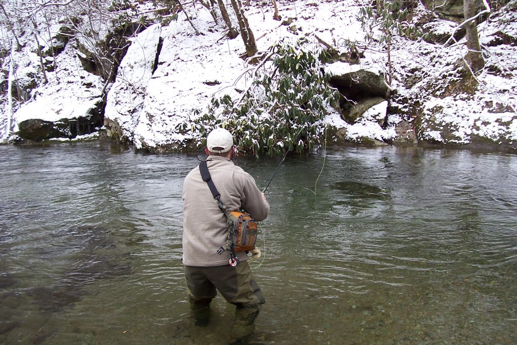
[[[280,158],[236,159],[264,188]],[[0,146],[0,343],[227,343],[193,326],[181,257],[192,154]],[[517,156],[332,148],[287,157],[250,265],[264,344],[517,343]]]

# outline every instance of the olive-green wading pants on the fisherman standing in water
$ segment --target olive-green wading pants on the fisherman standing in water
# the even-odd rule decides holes
[[[247,261],[241,261],[235,267],[185,266],[185,278],[190,306],[197,325],[208,323],[210,301],[219,291],[227,302],[237,306],[231,336],[244,338],[253,333],[258,310],[266,300],[253,278]]]

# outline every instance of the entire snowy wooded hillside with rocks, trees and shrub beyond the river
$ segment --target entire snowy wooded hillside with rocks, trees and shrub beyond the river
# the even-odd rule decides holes
[[[517,2],[1,4],[3,143],[151,152],[330,142],[514,150]]]

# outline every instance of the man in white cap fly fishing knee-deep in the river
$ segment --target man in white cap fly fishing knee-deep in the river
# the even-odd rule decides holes
[[[244,209],[256,221],[264,220],[269,203],[250,174],[235,166],[232,134],[216,128],[208,134],[207,166],[222,203],[230,211]],[[226,217],[218,207],[199,167],[194,168],[183,184],[183,264],[191,308],[196,325],[206,326],[209,305],[217,291],[227,302],[237,306],[231,336],[244,343],[254,331],[260,306],[266,301],[248,265],[246,252],[237,252],[240,264],[230,266],[230,251],[218,254],[226,244]],[[216,291],[217,290],[217,291]]]

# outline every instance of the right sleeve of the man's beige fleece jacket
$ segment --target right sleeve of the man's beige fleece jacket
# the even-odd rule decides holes
[[[262,221],[269,214],[269,203],[257,188],[255,180],[246,172],[236,172],[234,178],[238,178],[242,187],[241,206],[256,221]]]

